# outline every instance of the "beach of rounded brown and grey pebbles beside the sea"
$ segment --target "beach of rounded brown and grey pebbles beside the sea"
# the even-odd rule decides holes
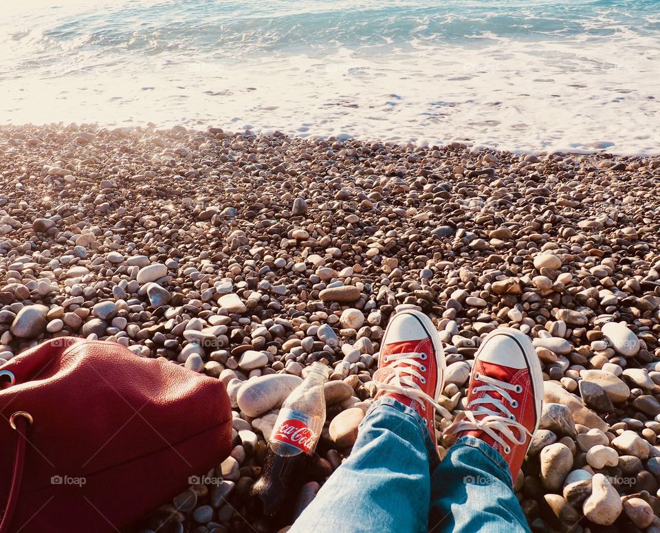
[[[443,341],[452,416],[481,338],[533,340],[531,530],[660,532],[660,157],[60,124],[0,127],[0,180],[0,363],[85,336],[227,387],[217,482],[141,533],[281,530],[245,509],[277,410],[331,367],[300,512],[351,453],[409,306]]]

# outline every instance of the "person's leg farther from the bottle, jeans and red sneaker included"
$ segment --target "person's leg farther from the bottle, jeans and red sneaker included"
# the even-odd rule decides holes
[[[474,356],[466,410],[445,431],[457,440],[432,475],[430,531],[529,532],[512,477],[538,428],[542,398],[529,337],[510,328],[489,334]]]

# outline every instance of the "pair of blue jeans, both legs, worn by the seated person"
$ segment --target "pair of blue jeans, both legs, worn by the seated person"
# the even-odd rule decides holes
[[[417,412],[382,398],[362,420],[350,457],[289,533],[529,532],[494,449],[461,437],[437,463]]]

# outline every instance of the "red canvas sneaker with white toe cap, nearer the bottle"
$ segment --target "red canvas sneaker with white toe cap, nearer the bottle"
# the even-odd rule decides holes
[[[437,447],[434,411],[448,414],[436,402],[445,384],[445,353],[428,316],[405,309],[391,318],[373,381],[379,389],[376,398],[391,396],[421,415]]]

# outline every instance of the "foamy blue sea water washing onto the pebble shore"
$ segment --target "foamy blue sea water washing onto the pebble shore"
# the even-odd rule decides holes
[[[5,0],[0,124],[660,153],[656,0]]]

